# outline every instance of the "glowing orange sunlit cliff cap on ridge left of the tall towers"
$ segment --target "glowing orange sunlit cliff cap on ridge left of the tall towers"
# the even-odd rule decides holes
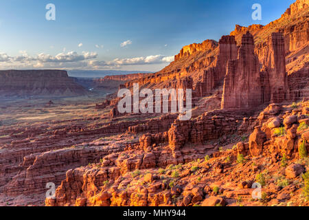
[[[181,58],[190,56],[195,52],[214,50],[217,46],[218,42],[214,40],[206,40],[203,43],[192,43],[181,49],[180,53],[175,56],[175,61],[179,61]]]

